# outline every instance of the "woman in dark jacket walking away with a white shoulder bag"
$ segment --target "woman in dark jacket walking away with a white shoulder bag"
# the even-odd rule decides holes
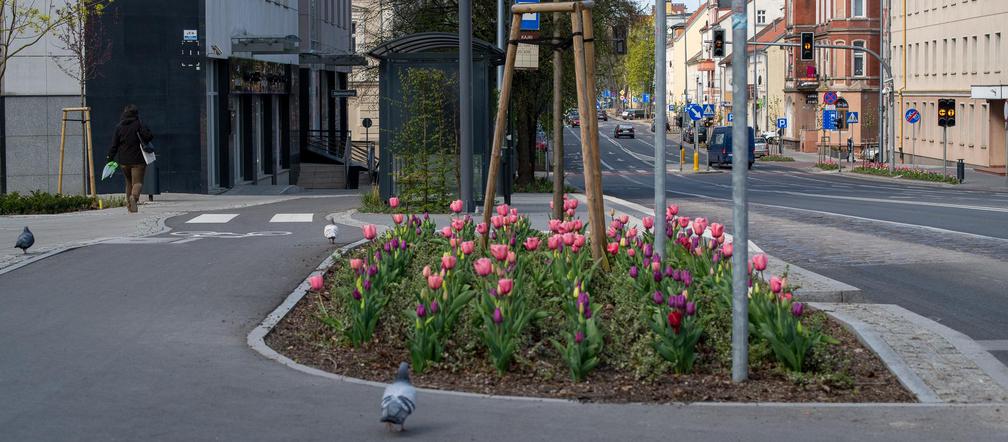
[[[143,188],[143,175],[147,170],[147,162],[144,161],[140,149],[152,139],[154,135],[140,121],[140,113],[136,106],[126,105],[119,118],[119,125],[116,126],[116,134],[112,138],[112,148],[109,149],[107,160],[119,162],[119,169],[126,177],[126,209],[130,213],[136,213],[136,203],[140,200],[140,191]]]

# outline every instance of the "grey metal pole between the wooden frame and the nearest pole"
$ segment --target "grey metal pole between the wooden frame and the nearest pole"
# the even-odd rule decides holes
[[[664,3],[664,2],[661,2]],[[654,20],[654,247],[665,255],[665,31],[664,4],[655,3]],[[659,136],[660,134],[660,136]]]

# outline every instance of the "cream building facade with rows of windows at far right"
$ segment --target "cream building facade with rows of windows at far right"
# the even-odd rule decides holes
[[[906,30],[903,30],[905,16]],[[897,146],[904,161],[943,155],[937,100],[956,100],[956,126],[948,131],[947,156],[969,164],[1005,164],[1005,99],[1008,94],[1008,2],[999,0],[893,2],[892,54],[900,91]],[[902,120],[920,112],[918,124]]]

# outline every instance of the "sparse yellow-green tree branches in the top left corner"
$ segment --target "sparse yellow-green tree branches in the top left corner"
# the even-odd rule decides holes
[[[39,9],[38,0],[0,0],[0,83],[7,75],[7,62],[31,47],[59,25],[51,10]]]

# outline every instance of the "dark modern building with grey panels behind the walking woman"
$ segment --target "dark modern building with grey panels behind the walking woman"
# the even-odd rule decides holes
[[[158,159],[148,168],[147,179],[156,189],[145,192],[217,193],[248,185],[297,184],[302,162],[314,160],[305,152],[306,134],[346,132],[345,103],[341,108],[330,95],[339,87],[338,69],[302,67],[300,61],[312,48],[348,51],[349,0],[116,2],[101,20],[112,49],[101,74],[87,82],[98,171],[126,104],[137,105],[155,134]],[[11,65],[22,62],[40,63],[16,60]],[[10,77],[4,96],[18,97],[15,102],[26,95],[34,101],[44,98],[48,107],[34,121],[46,125],[33,129],[33,136],[58,138],[58,127],[51,122],[58,123],[59,109],[75,102],[68,99],[66,79],[47,80],[39,89],[38,82],[26,77]],[[7,115],[22,114],[21,104],[6,104]],[[37,103],[29,106],[43,109]],[[19,138],[23,130],[16,118],[3,119],[15,128],[3,137],[8,153],[42,151]],[[46,160],[5,174],[13,185],[7,191],[54,192],[52,149],[44,151]],[[120,193],[120,181],[108,180],[99,183],[98,191]]]

